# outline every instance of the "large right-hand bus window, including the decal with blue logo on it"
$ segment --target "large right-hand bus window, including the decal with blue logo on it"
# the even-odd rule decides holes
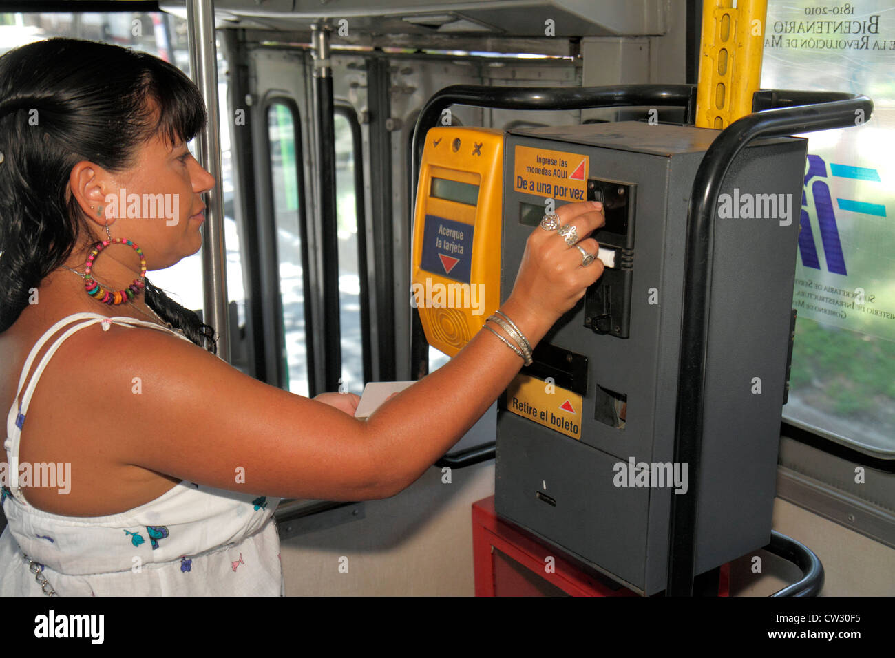
[[[826,12],[827,15],[823,15]],[[762,87],[874,100],[855,127],[810,132],[784,417],[895,457],[895,49],[891,0],[771,0]],[[798,203],[794,204],[798,206]]]

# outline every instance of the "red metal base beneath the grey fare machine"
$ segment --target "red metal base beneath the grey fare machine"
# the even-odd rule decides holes
[[[637,596],[601,582],[555,549],[494,512],[494,496],[473,503],[473,568],[476,596]],[[729,565],[720,570],[719,595],[729,595]]]

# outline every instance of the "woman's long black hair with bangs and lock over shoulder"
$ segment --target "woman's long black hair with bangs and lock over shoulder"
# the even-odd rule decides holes
[[[123,171],[141,143],[157,134],[190,141],[205,119],[192,81],[146,53],[51,38],[0,57],[0,332],[88,230],[69,191],[72,167],[90,160]],[[214,329],[195,313],[148,280],[145,295],[163,320],[217,351]]]

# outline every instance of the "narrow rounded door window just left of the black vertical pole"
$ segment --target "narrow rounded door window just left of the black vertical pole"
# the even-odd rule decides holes
[[[285,103],[268,107],[270,181],[277,227],[277,262],[283,300],[283,335],[286,338],[286,380],[292,393],[307,396],[308,353],[304,318],[302,213],[299,186],[296,122]]]

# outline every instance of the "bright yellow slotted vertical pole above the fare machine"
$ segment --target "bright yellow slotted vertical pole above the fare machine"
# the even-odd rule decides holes
[[[703,1],[696,125],[726,128],[752,112],[762,77],[768,0]]]

